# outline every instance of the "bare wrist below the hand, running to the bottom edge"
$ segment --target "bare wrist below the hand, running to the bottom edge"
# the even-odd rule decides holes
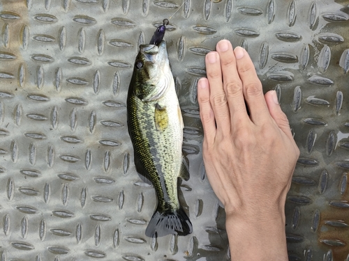
[[[284,211],[229,214],[225,226],[234,260],[288,260]]]

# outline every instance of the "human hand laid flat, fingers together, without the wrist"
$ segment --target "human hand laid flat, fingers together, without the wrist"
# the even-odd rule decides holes
[[[233,52],[228,40],[216,50],[206,56],[207,79],[198,82],[207,177],[227,222],[257,227],[275,220],[284,230],[285,197],[299,157],[288,119],[274,90],[263,95],[246,50]]]

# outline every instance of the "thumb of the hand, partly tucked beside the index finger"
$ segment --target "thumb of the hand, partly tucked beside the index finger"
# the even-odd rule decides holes
[[[269,92],[265,93],[265,102],[267,102],[270,116],[272,116],[276,124],[288,136],[288,138],[293,140],[290,123],[288,122],[285,113],[281,111],[281,106],[279,105],[275,90],[269,90]]]

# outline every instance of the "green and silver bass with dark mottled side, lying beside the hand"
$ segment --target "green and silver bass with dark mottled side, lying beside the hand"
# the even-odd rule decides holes
[[[127,95],[127,125],[135,168],[156,191],[148,237],[188,235],[193,225],[178,200],[178,177],[188,180],[182,155],[183,118],[165,40],[140,45]]]

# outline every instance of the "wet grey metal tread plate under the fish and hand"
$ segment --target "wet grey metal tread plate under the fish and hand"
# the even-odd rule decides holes
[[[205,177],[196,84],[222,38],[276,88],[301,150],[286,214],[290,260],[349,260],[349,1],[27,0],[0,3],[0,260],[228,260]],[[144,235],[154,189],[126,129],[138,45],[165,35],[184,115],[193,234]],[[267,251],[267,249],[266,249]]]

